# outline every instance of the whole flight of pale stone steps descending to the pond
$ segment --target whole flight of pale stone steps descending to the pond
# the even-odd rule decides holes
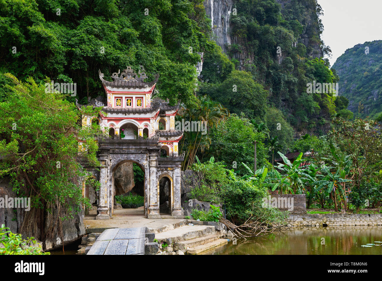
[[[170,255],[174,254],[199,254],[206,250],[227,244],[224,237],[222,224],[214,222],[188,221],[196,225],[178,224],[176,226],[163,228],[163,231],[157,230],[155,239],[160,244],[167,244],[163,248],[164,252]],[[163,252],[162,252],[163,253]]]

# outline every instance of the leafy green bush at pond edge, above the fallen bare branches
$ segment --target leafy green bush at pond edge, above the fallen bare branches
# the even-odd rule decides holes
[[[198,160],[199,162],[199,160]],[[245,166],[245,164],[243,164]],[[246,167],[246,169],[249,169]],[[192,193],[197,200],[203,201],[214,194],[215,202],[225,204],[226,217],[233,223],[243,223],[252,216],[260,216],[265,220],[280,223],[286,218],[286,214],[274,208],[261,208],[262,198],[268,196],[268,188],[263,184],[267,169],[259,170],[253,177],[240,177],[233,170],[225,169],[221,162],[209,162],[194,164],[193,170],[198,173],[200,184],[203,188],[194,188],[198,192]],[[250,169],[249,169],[250,170]],[[209,171],[209,173],[208,173]],[[210,172],[216,171],[216,172]],[[211,207],[212,208],[212,207]],[[210,213],[193,210],[193,217],[201,220],[211,220],[213,210]],[[207,216],[209,214],[210,216]]]

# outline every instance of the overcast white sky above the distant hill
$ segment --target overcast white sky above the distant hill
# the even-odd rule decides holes
[[[330,66],[346,49],[366,41],[382,40],[382,0],[318,0],[324,32],[321,39],[332,49]]]

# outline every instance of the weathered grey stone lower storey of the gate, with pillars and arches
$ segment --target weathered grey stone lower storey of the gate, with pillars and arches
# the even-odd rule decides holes
[[[109,219],[114,206],[114,169],[123,162],[134,162],[144,170],[144,215],[160,218],[159,180],[167,176],[172,184],[169,189],[169,208],[174,218],[183,218],[180,202],[180,167],[183,157],[160,158],[158,140],[113,140],[99,141],[99,205],[96,219]]]

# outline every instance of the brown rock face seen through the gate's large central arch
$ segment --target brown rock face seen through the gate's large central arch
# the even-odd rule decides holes
[[[115,170],[114,177],[115,195],[121,195],[131,191],[135,185],[133,163],[122,163]]]

